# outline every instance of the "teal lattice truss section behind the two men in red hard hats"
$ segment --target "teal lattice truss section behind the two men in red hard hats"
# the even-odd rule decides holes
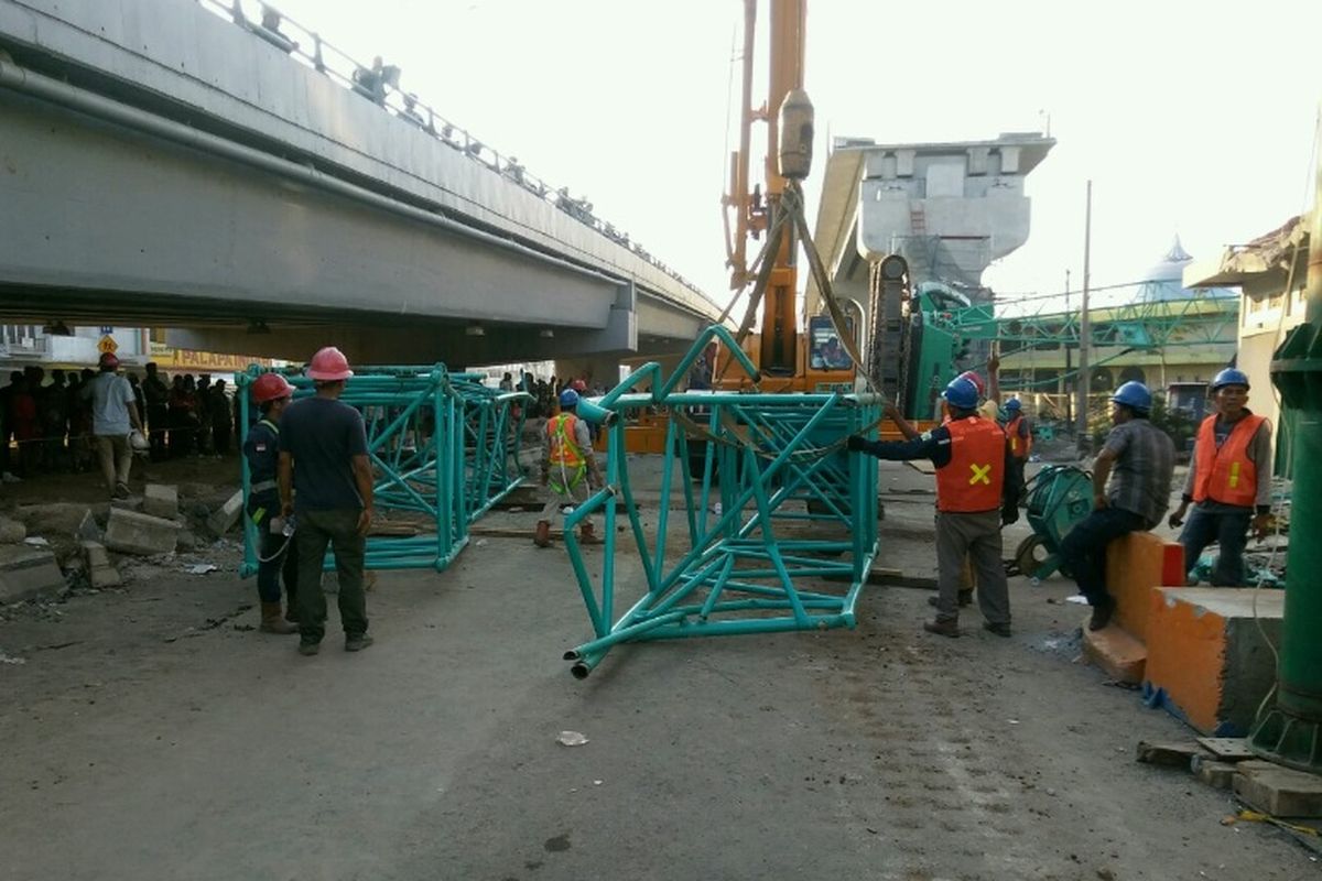
[[[264,372],[239,374],[241,424],[255,421],[247,388]],[[293,386],[293,398],[315,394],[297,370],[280,370]],[[345,383],[340,400],[357,408],[368,432],[375,506],[402,531],[416,535],[369,536],[369,569],[442,571],[468,544],[468,527],[522,482],[518,442],[520,402],[526,392],[501,392],[483,386],[481,374],[452,374],[431,367],[361,367]],[[297,491],[297,487],[295,487]],[[245,510],[251,477],[243,461]],[[256,572],[260,548],[256,528],[245,518],[243,567]],[[327,556],[327,568],[333,559]]]

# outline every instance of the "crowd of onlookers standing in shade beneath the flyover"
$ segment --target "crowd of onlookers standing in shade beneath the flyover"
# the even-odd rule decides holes
[[[0,387],[0,474],[5,479],[41,473],[97,469],[91,402],[82,395],[95,371],[40,366],[9,374]],[[225,456],[235,439],[237,403],[223,379],[145,367],[126,372],[137,415],[147,425],[152,461],[181,456]]]

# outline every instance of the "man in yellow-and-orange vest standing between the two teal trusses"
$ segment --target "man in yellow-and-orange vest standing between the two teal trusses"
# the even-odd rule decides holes
[[[566,505],[582,505],[602,486],[602,473],[592,453],[592,427],[578,416],[579,394],[566,388],[559,395],[561,412],[546,421],[546,457],[542,460],[542,486],[549,494],[537,519],[533,543],[539,548],[551,544],[551,518]],[[592,520],[579,526],[579,542],[600,544]]]

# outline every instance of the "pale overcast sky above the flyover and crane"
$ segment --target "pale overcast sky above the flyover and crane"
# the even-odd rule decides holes
[[[278,5],[362,61],[399,65],[406,91],[724,299],[739,0]],[[1215,256],[1311,203],[1318,34],[1317,0],[814,0],[809,205],[828,135],[974,140],[1050,115],[1059,143],[1029,177],[1029,243],[986,283],[1046,293],[1069,269],[1079,287],[1089,177],[1093,284],[1141,279],[1177,234]]]

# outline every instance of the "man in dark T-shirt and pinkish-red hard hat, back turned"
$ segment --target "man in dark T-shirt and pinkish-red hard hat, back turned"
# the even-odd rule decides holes
[[[340,623],[344,650],[361,651],[368,635],[364,586],[368,530],[371,528],[371,460],[362,413],[340,402],[353,376],[349,359],[334,346],[312,357],[304,371],[316,394],[290,404],[280,417],[280,510],[297,518],[299,654],[315,655],[325,637],[327,598],[321,561],[327,546],[340,575]],[[293,494],[297,483],[299,494]]]

